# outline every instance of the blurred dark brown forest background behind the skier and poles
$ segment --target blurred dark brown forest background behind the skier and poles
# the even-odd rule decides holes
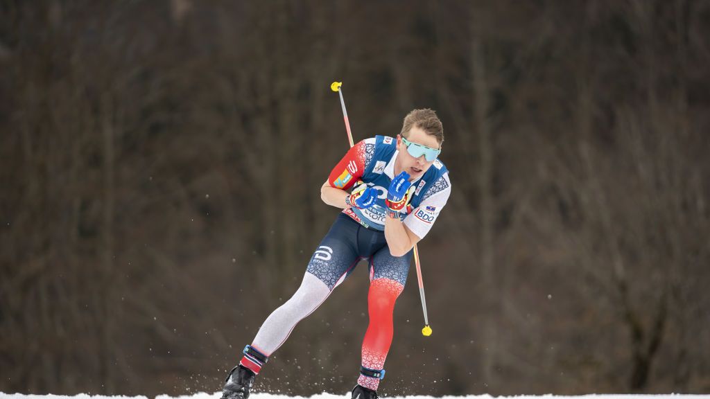
[[[454,185],[380,394],[710,392],[710,1],[0,1],[0,391],[214,392],[354,138]],[[354,386],[364,266],[256,391]]]

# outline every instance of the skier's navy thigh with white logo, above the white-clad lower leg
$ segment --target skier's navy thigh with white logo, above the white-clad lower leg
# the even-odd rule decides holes
[[[358,224],[338,217],[311,256],[306,271],[315,275],[329,290],[335,288],[355,267]]]

